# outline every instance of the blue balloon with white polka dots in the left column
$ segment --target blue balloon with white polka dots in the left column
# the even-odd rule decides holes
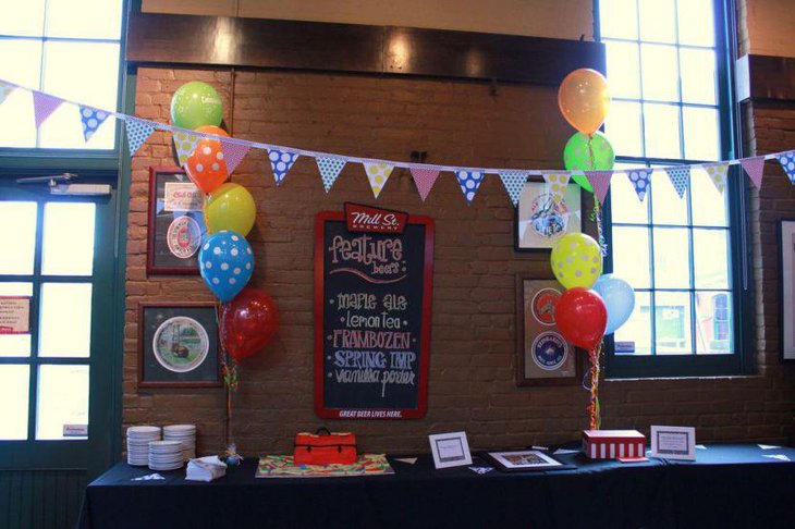
[[[252,246],[240,233],[228,230],[213,233],[199,250],[199,271],[212,293],[227,303],[252,279]]]

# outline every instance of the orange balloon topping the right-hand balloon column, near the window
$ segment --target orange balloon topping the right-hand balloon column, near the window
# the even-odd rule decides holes
[[[583,134],[594,134],[610,111],[608,79],[596,70],[575,70],[561,83],[558,106],[574,128]]]

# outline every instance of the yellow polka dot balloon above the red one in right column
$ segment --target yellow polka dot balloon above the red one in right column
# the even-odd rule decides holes
[[[599,244],[584,233],[563,235],[550,257],[552,272],[566,288],[590,288],[602,273]]]

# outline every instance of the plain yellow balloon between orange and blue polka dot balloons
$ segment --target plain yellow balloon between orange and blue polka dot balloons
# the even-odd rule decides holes
[[[254,226],[257,207],[248,189],[227,182],[207,196],[204,213],[207,233],[230,230],[245,237]]]

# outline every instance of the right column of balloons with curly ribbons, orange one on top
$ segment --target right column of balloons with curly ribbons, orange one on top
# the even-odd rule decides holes
[[[579,69],[570,73],[558,91],[558,106],[577,130],[563,150],[568,171],[609,171],[615,153],[608,138],[598,132],[610,110],[610,88],[602,74]],[[584,174],[572,179],[589,193],[594,188]],[[552,272],[566,288],[555,306],[555,322],[571,343],[588,350],[590,359],[590,429],[601,425],[597,389],[599,357],[606,334],[623,325],[635,308],[635,291],[613,274],[602,275],[602,234],[599,200],[594,200],[594,220],[599,242],[583,233],[561,237],[552,248]]]

